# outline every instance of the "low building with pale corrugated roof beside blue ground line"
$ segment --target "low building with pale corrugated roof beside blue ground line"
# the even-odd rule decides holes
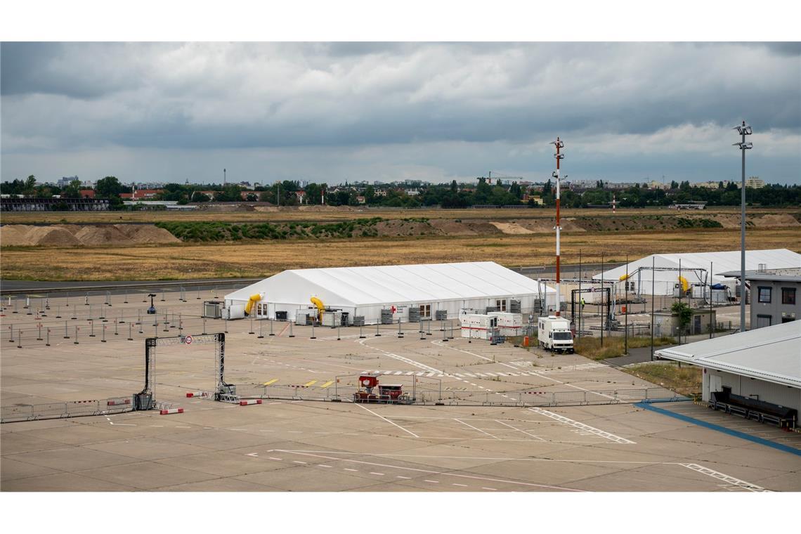
[[[703,399],[732,395],[801,412],[801,321],[705,339],[655,352],[703,369]]]

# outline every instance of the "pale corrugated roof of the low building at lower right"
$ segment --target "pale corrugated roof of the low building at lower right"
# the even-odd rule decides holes
[[[700,367],[801,387],[801,321],[665,348],[655,354]]]

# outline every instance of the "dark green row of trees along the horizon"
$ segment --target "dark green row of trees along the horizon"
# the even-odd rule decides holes
[[[705,201],[709,206],[737,206],[740,203],[740,191],[736,183],[729,183],[723,187],[720,183],[717,189],[693,187],[689,182],[671,183],[669,191],[662,189],[648,189],[635,185],[626,190],[610,191],[604,183],[598,181],[597,187],[585,191],[571,191],[562,189],[562,206],[581,208],[593,205],[605,205],[612,202],[613,195],[620,207],[648,207],[670,206],[673,203],[687,203],[690,201]],[[52,185],[39,185],[36,178],[31,175],[27,179],[15,179],[12,182],[0,184],[0,192],[7,195],[25,195],[50,198],[61,195],[62,198],[79,198],[81,196],[81,183],[73,180],[68,186],[60,188]],[[95,183],[95,197],[109,199],[112,209],[123,207],[120,194],[130,191],[115,176],[107,176]],[[292,180],[284,180],[270,186],[257,186],[248,190],[236,184],[179,184],[168,183],[163,187],[163,193],[154,197],[154,200],[172,200],[179,204],[199,203],[214,200],[216,202],[269,202],[280,206],[295,206],[300,203],[297,191],[301,191],[300,184]],[[517,183],[509,186],[489,183],[486,179],[478,179],[475,188],[465,189],[459,187],[456,180],[449,184],[434,184],[417,187],[416,195],[399,188],[379,190],[376,187],[364,188],[329,187],[326,184],[310,183],[303,188],[306,204],[319,205],[325,203],[330,206],[357,206],[362,203],[368,206],[384,207],[469,207],[477,205],[516,205],[522,204],[524,195],[530,195],[527,203],[535,206],[534,196],[539,196],[545,207],[556,203],[553,183],[548,180],[541,189],[525,190]],[[799,206],[801,205],[801,186],[767,185],[759,189],[747,189],[747,202],[763,206]],[[364,197],[360,199],[359,197]],[[363,201],[362,201],[363,200]]]

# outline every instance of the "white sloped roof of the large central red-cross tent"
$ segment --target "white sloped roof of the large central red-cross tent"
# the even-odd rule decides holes
[[[510,271],[494,262],[423,263],[377,267],[329,267],[294,269],[244,287],[226,295],[226,299],[247,300],[253,293],[292,295],[289,302],[305,302],[308,294],[324,290],[337,304],[364,306],[379,303],[434,302],[482,297],[555,293],[555,290],[529,277]],[[300,295],[302,293],[302,295]]]

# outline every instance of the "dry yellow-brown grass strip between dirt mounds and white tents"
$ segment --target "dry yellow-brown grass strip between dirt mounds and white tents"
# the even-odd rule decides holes
[[[747,247],[801,251],[797,228],[750,229]],[[581,232],[562,236],[562,262],[622,261],[654,252],[739,248],[736,229]],[[551,265],[553,234],[418,236],[252,243],[178,243],[137,247],[5,247],[3,279],[133,280],[260,277],[284,269],[396,263],[495,261]]]

